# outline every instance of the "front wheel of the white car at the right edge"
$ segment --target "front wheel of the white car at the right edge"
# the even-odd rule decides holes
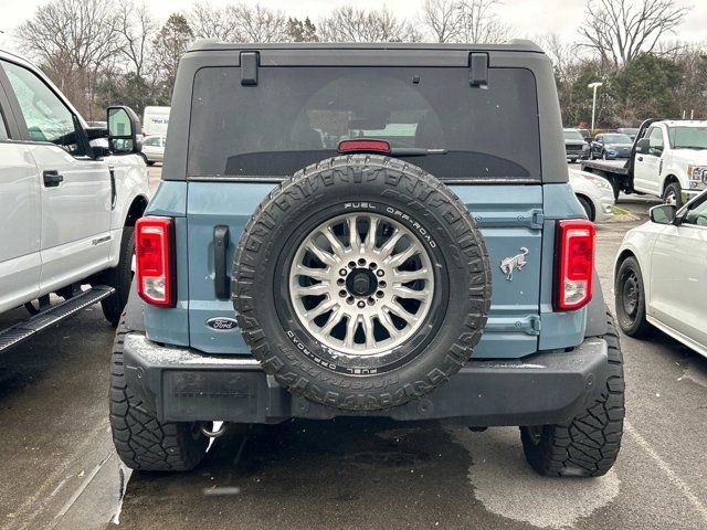
[[[651,335],[653,327],[645,318],[645,289],[643,274],[635,257],[626,257],[616,272],[616,316],[619,327],[629,337],[643,338]]]

